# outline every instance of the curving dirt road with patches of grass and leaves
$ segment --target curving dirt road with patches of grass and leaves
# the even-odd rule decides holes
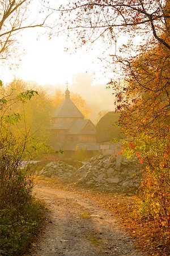
[[[39,242],[25,256],[141,255],[112,213],[94,200],[40,185],[34,192],[50,212]]]

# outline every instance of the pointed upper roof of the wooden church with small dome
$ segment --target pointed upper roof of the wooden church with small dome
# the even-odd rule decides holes
[[[65,100],[59,105],[58,109],[54,112],[52,117],[75,117],[84,118],[84,115],[75,106],[73,101],[70,100],[70,92],[67,89],[65,92]]]

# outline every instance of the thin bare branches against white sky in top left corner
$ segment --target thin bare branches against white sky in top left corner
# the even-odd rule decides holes
[[[0,59],[1,63],[16,57],[18,33],[35,27],[46,27],[48,12],[43,13],[41,6],[33,6],[35,1],[2,0],[0,1]],[[32,9],[37,9],[39,19],[35,18]]]

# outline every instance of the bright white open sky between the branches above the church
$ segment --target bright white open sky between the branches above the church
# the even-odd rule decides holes
[[[41,35],[37,40],[36,30],[24,31],[20,42],[20,56],[18,69],[10,72],[3,70],[1,77],[5,82],[14,77],[25,81],[36,81],[40,85],[56,85],[72,83],[76,73],[87,72],[94,77],[95,84],[105,84],[108,77],[102,74],[102,65],[97,59],[100,56],[99,48],[86,51],[85,47],[78,51],[66,51],[66,42],[62,36],[48,39]]]

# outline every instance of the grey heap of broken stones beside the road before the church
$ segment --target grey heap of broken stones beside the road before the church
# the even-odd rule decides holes
[[[141,165],[121,155],[117,158],[113,155],[99,155],[92,157],[80,168],[61,161],[50,162],[39,175],[117,192],[134,192],[141,183]]]

